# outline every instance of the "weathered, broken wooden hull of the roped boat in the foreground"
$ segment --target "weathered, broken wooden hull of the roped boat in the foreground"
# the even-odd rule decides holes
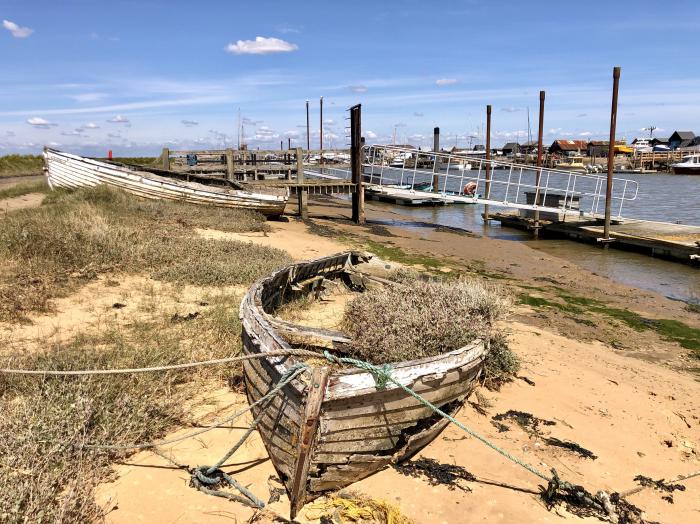
[[[360,271],[357,266],[368,259],[362,253],[340,253],[285,267],[258,281],[241,303],[244,352],[298,346],[342,353],[349,342],[343,333],[292,324],[274,313],[290,300],[317,292],[326,279],[340,279],[355,290],[395,285]],[[477,340],[436,357],[391,364],[391,374],[444,411],[455,413],[480,377],[485,354],[483,342]],[[262,397],[295,363],[293,357],[246,361],[248,401]],[[292,518],[323,492],[410,458],[448,423],[395,384],[378,389],[370,373],[331,370],[325,361],[313,366],[310,373],[285,386],[258,426],[287,487]],[[254,411],[255,416],[259,413]]]

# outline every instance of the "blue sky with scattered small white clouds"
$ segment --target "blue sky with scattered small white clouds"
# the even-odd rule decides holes
[[[0,0],[0,155],[700,133],[700,2]]]

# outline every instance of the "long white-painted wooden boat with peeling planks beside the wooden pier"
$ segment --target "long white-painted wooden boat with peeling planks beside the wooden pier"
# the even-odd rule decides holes
[[[162,174],[156,174],[135,166],[102,162],[48,148],[44,150],[44,162],[52,189],[107,184],[144,198],[251,209],[267,216],[284,213],[289,198],[286,189],[250,192],[205,185],[202,181],[180,180],[175,175],[165,176],[168,172],[159,171]]]

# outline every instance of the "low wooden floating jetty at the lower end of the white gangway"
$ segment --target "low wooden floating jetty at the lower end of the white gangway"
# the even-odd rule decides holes
[[[504,226],[530,230],[534,220],[517,212],[491,213],[489,218]],[[600,242],[602,219],[540,221],[539,235],[566,237],[581,242]],[[619,219],[610,225],[610,245],[685,263],[700,262],[700,226],[651,220]]]

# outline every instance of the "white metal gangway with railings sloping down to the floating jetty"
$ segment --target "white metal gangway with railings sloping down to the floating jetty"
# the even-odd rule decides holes
[[[452,201],[593,217],[605,208],[606,177],[584,168],[538,168],[476,155],[365,146],[363,175],[369,185],[430,192]],[[613,178],[613,214],[622,216],[624,204],[637,193],[635,180]]]

